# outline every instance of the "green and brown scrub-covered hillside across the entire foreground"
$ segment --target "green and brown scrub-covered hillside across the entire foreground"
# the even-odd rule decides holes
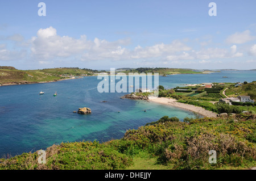
[[[164,116],[119,140],[53,145],[45,164],[37,152],[0,159],[0,169],[249,169],[256,166],[255,118]],[[209,163],[210,150],[217,152],[216,163]]]

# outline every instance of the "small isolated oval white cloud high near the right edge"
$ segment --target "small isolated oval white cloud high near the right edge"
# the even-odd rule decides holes
[[[230,35],[226,42],[230,44],[243,44],[248,41],[254,40],[256,37],[250,35],[250,30],[245,30],[243,32],[236,32],[233,35]]]

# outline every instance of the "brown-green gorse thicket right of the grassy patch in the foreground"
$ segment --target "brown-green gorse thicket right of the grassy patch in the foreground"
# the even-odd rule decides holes
[[[174,169],[213,169],[255,163],[255,119],[237,123],[225,119],[184,119],[189,124],[166,121],[168,116],[160,120],[127,131],[124,139],[136,141],[140,148],[158,155],[159,162],[175,165]],[[209,163],[209,150],[217,152],[214,165]]]

